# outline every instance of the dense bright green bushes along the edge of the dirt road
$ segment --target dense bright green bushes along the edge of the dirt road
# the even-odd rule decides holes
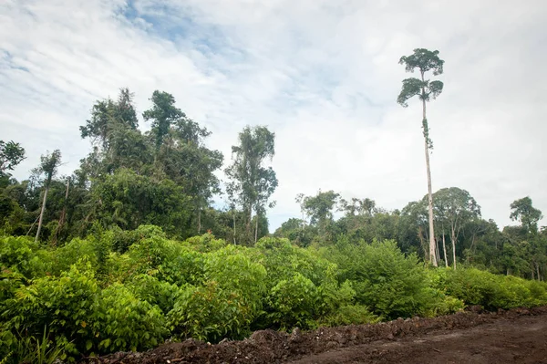
[[[167,338],[216,342],[255,329],[433,317],[466,305],[547,304],[547,284],[430,268],[393,241],[254,247],[160,228],[106,231],[57,248],[0,237],[0,362],[73,361]]]

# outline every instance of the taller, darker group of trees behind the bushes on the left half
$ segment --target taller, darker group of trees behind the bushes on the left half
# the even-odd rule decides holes
[[[63,243],[95,227],[121,230],[155,224],[173,238],[214,231],[235,244],[267,234],[266,209],[277,186],[265,165],[274,156],[273,132],[245,127],[232,147],[226,195],[229,210],[212,207],[221,192],[215,172],[223,155],[205,145],[211,135],[177,108],[167,92],[154,91],[142,113],[150,131],[139,130],[133,95],[98,100],[80,134],[91,144],[70,175],[58,175],[61,151],[46,152],[22,182],[10,172],[25,158],[15,141],[2,141],[0,223],[5,234],[34,234],[36,241]]]

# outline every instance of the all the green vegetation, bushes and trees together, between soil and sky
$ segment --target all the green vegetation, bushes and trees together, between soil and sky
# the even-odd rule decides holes
[[[547,304],[547,229],[530,196],[515,196],[517,224],[500,227],[465,189],[431,191],[425,105],[443,85],[424,75],[442,73],[438,53],[401,58],[421,74],[397,102],[423,103],[429,191],[393,211],[318,185],[269,231],[274,132],[245,127],[224,156],[160,90],[146,132],[128,88],[97,100],[79,127],[88,156],[70,175],[58,173],[62,151],[45,151],[17,181],[24,143],[0,140],[0,363]]]

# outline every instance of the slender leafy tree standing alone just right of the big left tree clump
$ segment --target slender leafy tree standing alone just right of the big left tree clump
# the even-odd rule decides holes
[[[277,187],[277,177],[272,167],[263,167],[266,158],[275,154],[275,134],[266,127],[245,127],[239,134],[239,145],[232,146],[235,159],[226,169],[231,182],[228,183],[228,195],[235,204],[243,207],[246,240],[256,242],[258,238],[258,217],[264,213],[268,200]],[[256,213],[254,236],[251,233],[253,210]]]

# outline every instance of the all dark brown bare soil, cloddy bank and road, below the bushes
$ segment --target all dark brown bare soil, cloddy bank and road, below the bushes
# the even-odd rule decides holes
[[[256,331],[210,345],[189,339],[144,353],[116,353],[83,363],[544,363],[547,307],[456,315],[292,334]]]

